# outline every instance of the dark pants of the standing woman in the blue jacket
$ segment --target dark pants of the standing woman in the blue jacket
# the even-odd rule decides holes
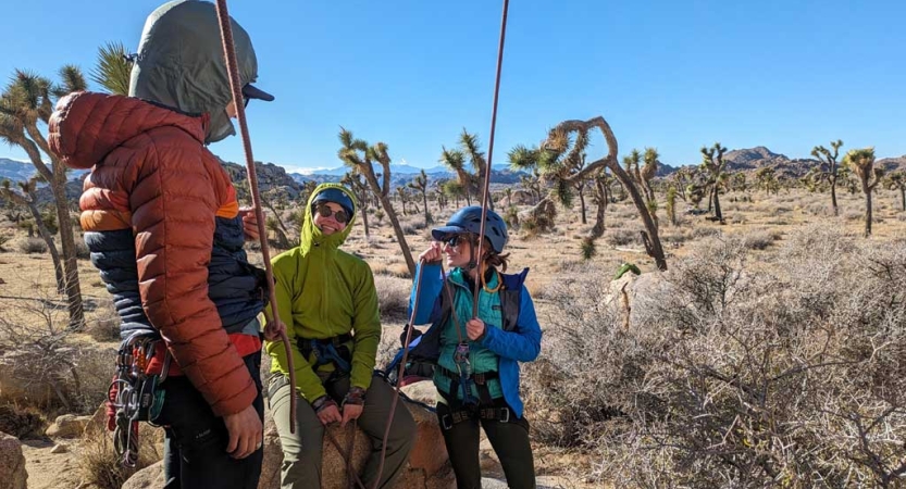
[[[516,415],[512,415],[508,422],[501,422],[482,419],[475,414],[445,429],[445,416],[449,424],[450,413],[464,408],[451,397],[444,396],[444,398],[447,399],[448,404],[437,403],[437,418],[440,421],[440,431],[444,434],[444,442],[456,474],[456,487],[458,489],[482,487],[482,469],[479,462],[481,441],[479,425],[481,425],[491,446],[494,447],[494,452],[500,459],[500,465],[507,476],[507,485],[511,489],[534,489],[535,462],[532,456],[532,446],[529,442],[529,422],[524,417],[517,418]],[[502,399],[496,399],[494,406],[509,409]]]

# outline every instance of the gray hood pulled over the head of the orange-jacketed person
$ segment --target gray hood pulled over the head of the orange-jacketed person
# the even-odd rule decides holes
[[[231,21],[239,79],[245,86],[258,77],[258,60],[248,33]],[[132,70],[129,96],[189,114],[210,114],[206,142],[236,134],[226,114],[233,96],[213,3],[176,0],[148,16]]]

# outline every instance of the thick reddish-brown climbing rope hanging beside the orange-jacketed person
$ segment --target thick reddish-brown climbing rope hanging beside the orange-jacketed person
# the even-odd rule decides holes
[[[233,93],[233,100],[243,100],[243,87],[239,84],[239,66],[236,61],[236,45],[233,42],[233,25],[229,23],[229,11],[226,8],[226,0],[216,0],[218,20],[220,21],[220,33],[223,41],[223,54],[226,60],[226,72],[229,75],[229,90]],[[244,103],[234,103],[236,108],[236,118],[239,122],[239,134],[243,139],[243,149],[246,153],[246,174],[248,175],[249,189],[251,191],[251,206],[255,210],[255,217],[258,220],[258,239],[261,242],[261,256],[264,261],[264,273],[268,277],[268,299],[271,304],[271,311],[274,312],[274,317],[266,317],[268,328],[275,327],[274,319],[278,319],[280,311],[277,309],[277,298],[274,293],[274,269],[271,266],[271,251],[268,248],[268,229],[264,224],[264,211],[261,208],[261,195],[258,192],[258,173],[255,168],[255,156],[251,153],[251,137],[248,130],[248,121],[246,120],[246,105]],[[265,316],[266,316],[265,310]],[[293,347],[289,343],[285,331],[280,335],[283,340],[283,346],[286,349],[286,362],[289,369],[289,381],[296,385],[296,368],[293,365]],[[296,432],[296,397],[289,397],[289,431]]]

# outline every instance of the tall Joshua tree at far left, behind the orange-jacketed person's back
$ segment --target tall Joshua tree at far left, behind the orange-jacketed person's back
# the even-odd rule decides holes
[[[61,84],[54,86],[42,76],[22,70],[15,71],[0,95],[0,139],[25,150],[40,177],[51,188],[60,226],[60,243],[63,248],[70,327],[82,329],[85,326],[85,313],[82,304],[82,287],[78,283],[78,262],[70,217],[70,203],[66,199],[66,167],[50,151],[47,138],[39,129],[39,124],[46,125],[50,121],[57,97],[84,90],[86,83],[80,71],[72,65],[63,66],[59,75]],[[50,167],[45,163],[44,155],[50,158]]]

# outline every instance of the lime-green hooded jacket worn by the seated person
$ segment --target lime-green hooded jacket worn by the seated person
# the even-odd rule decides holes
[[[286,325],[293,343],[293,362],[299,392],[309,402],[326,391],[310,359],[302,356],[297,338],[332,338],[351,331],[353,339],[351,385],[368,389],[374,369],[377,344],[381,342],[381,316],[377,292],[371,267],[358,256],[339,249],[355,224],[355,212],[346,228],[331,236],[321,234],[311,215],[311,203],[326,188],[338,188],[349,195],[358,209],[355,196],[338,184],[322,184],[311,193],[306,206],[302,236],[298,248],[271,260],[274,268],[275,292],[280,318]],[[265,341],[271,355],[271,372],[288,375],[286,351],[281,341]],[[332,364],[320,372],[330,372]]]

